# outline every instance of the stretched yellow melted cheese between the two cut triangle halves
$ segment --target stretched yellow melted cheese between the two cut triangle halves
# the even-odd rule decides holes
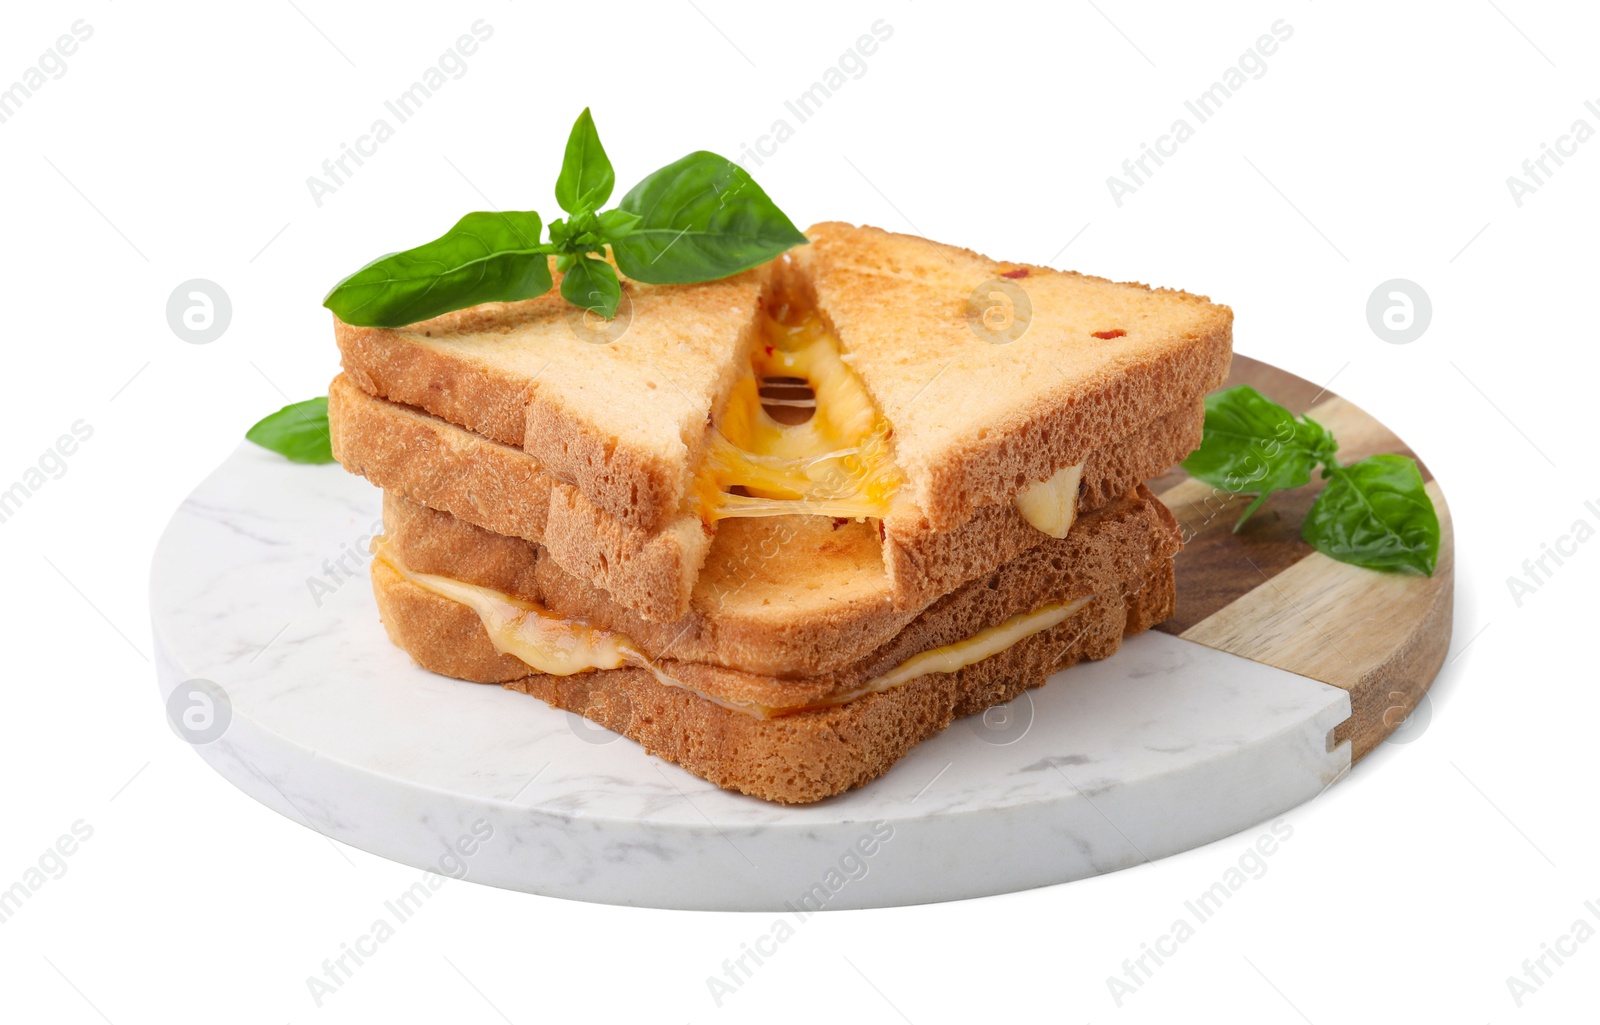
[[[803,424],[774,421],[760,395],[768,377],[805,381],[814,414]],[[750,374],[734,385],[712,432],[696,483],[701,516],[882,518],[901,486],[890,435],[816,312],[765,315]]]

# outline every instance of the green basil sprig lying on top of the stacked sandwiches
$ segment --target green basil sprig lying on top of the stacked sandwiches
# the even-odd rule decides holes
[[[763,264],[805,235],[762,187],[725,157],[704,150],[669,163],[634,185],[613,209],[616,173],[586,109],[566,139],[550,221],[541,241],[533,211],[470,213],[414,249],[362,267],[333,286],[323,305],[349,325],[398,328],[480,302],[531,299],[550,291],[549,257],[562,272],[562,297],[616,315],[622,273],[650,285],[714,281]]]

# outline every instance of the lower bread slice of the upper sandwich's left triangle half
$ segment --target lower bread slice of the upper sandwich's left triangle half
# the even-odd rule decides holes
[[[328,385],[328,427],[334,457],[379,488],[494,534],[541,542],[571,572],[658,619],[688,608],[710,550],[698,516],[632,528],[520,448],[373,398],[346,374]]]

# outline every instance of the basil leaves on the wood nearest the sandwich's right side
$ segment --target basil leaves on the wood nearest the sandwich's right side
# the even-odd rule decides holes
[[[1237,531],[1274,491],[1310,483],[1317,464],[1331,461],[1338,448],[1322,424],[1238,385],[1206,395],[1205,437],[1184,459],[1184,470],[1214,488],[1259,496],[1234,524]]]

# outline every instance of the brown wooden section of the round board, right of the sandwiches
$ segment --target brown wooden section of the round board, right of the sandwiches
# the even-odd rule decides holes
[[[1350,718],[1333,744],[1350,740],[1350,758],[1360,760],[1405,721],[1445,664],[1456,577],[1450,507],[1427,464],[1354,403],[1238,355],[1224,387],[1237,384],[1326,427],[1344,464],[1378,453],[1416,457],[1438,510],[1438,566],[1432,577],[1378,572],[1307,545],[1301,521],[1320,478],[1274,494],[1235,534],[1250,496],[1229,496],[1176,467],[1150,481],[1186,540],[1178,612],[1157,630],[1349,691]]]

